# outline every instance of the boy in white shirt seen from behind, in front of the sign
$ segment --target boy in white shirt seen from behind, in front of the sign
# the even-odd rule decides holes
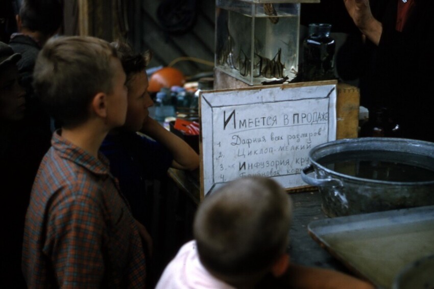
[[[273,179],[227,183],[199,205],[195,240],[179,250],[156,288],[373,288],[339,272],[290,264],[291,216],[291,199]]]

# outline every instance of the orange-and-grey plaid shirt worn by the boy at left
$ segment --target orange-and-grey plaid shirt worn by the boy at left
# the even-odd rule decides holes
[[[145,263],[108,161],[53,134],[26,215],[22,269],[29,288],[142,288]]]

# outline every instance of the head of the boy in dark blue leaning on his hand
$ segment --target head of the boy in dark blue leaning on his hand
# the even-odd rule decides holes
[[[151,51],[137,54],[128,43],[120,40],[112,42],[111,45],[116,48],[127,74],[128,111],[123,128],[136,132],[147,120],[148,108],[154,104],[148,93],[149,80],[145,71],[152,57]]]

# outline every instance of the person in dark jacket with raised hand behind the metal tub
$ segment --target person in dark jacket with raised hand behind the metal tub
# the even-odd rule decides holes
[[[394,112],[402,137],[434,142],[434,1],[344,0],[363,35],[361,101]]]

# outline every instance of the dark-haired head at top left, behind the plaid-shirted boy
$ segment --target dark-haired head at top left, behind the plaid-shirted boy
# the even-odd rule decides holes
[[[52,36],[62,25],[63,0],[23,0],[17,20],[21,29]]]

